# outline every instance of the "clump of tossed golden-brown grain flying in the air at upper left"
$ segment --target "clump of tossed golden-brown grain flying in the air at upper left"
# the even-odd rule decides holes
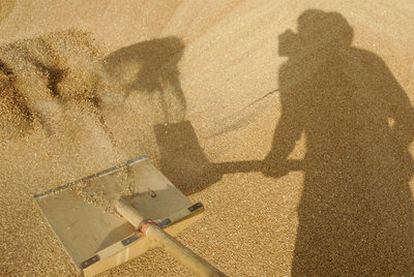
[[[70,30],[0,48],[0,127],[3,138],[42,128],[53,134],[67,105],[100,119],[98,92],[107,85],[93,38]]]

